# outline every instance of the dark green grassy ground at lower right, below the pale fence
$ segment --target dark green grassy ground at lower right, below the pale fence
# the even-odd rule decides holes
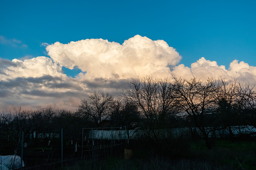
[[[131,159],[124,159],[122,154],[97,160],[89,159],[66,165],[61,170],[253,170],[256,169],[255,153],[254,141],[239,139],[232,142],[217,139],[214,149],[208,150],[204,141],[200,140],[189,142],[188,147],[181,151],[174,149],[169,155],[156,153],[147,147],[137,147]]]

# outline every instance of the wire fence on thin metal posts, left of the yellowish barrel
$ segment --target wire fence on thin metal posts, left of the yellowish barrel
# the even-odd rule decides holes
[[[125,131],[118,128],[82,129],[77,137],[54,133],[22,133],[12,142],[12,136],[1,139],[0,170],[56,169],[83,159],[98,159],[121,153]],[[9,143],[8,143],[9,142]]]

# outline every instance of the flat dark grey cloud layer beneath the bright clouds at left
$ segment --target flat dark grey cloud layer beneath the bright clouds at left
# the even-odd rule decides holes
[[[67,101],[72,97],[81,100],[93,91],[106,91],[118,96],[127,86],[128,81],[129,79],[111,80],[107,78],[95,78],[89,81],[50,75],[37,78],[8,78],[0,81],[0,109],[8,110],[10,107],[20,106],[40,108],[42,104]]]

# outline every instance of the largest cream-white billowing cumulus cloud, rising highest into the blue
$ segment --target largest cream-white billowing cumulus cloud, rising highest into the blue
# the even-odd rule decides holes
[[[181,56],[163,40],[152,41],[136,35],[121,45],[103,39],[86,39],[68,44],[55,42],[46,47],[60,66],[77,66],[86,78],[136,78],[145,75],[170,74],[169,65],[179,63]]]

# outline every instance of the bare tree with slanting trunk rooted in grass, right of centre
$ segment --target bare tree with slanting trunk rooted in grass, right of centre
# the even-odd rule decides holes
[[[203,83],[195,77],[190,80],[173,77],[178,106],[192,118],[196,127],[202,132],[208,149],[212,149],[209,132],[206,131],[206,119],[212,113],[215,101],[213,84],[211,81]]]

